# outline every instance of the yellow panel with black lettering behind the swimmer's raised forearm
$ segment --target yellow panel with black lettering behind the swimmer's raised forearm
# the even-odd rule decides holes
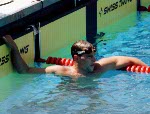
[[[29,42],[30,41],[30,42]],[[15,39],[15,42],[18,45],[18,49],[21,53],[22,58],[26,61],[27,64],[30,64],[34,61],[34,39],[33,34],[25,34],[18,39]],[[1,55],[0,55],[0,77],[8,75],[13,71],[10,58],[10,49],[6,45],[0,46]]]

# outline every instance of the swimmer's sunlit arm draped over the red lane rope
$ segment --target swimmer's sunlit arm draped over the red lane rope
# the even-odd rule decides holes
[[[148,66],[137,58],[127,56],[113,56],[109,58],[103,58],[99,60],[98,63],[101,65],[103,71],[114,69],[123,70],[125,67],[129,65]]]

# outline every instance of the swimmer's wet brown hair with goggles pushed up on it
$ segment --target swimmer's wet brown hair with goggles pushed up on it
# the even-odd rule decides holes
[[[85,40],[79,40],[75,42],[71,47],[71,55],[82,56],[83,54],[90,54],[96,52],[96,48]]]

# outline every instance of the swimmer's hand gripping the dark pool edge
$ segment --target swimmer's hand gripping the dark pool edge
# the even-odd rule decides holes
[[[10,47],[11,49],[18,49],[16,43],[14,42],[14,40],[10,35],[5,35],[2,38],[8,47]]]

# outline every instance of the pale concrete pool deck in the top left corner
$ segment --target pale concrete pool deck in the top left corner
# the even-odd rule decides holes
[[[60,0],[2,0],[0,2],[0,27],[58,1]]]

